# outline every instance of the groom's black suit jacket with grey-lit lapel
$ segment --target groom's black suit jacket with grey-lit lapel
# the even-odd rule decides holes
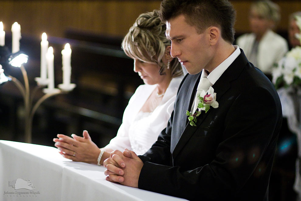
[[[183,79],[174,112],[150,150],[140,189],[189,200],[268,200],[282,110],[267,77],[244,52],[213,85],[218,108],[188,123],[200,75]]]

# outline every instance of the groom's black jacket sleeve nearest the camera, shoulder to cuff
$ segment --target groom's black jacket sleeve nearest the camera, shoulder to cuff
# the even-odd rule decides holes
[[[265,169],[272,165],[270,156],[275,151],[282,116],[277,107],[275,94],[268,90],[259,87],[246,90],[230,106],[222,140],[209,164],[200,161],[199,167],[187,170],[144,161],[139,188],[189,200],[230,198],[248,180],[260,180]],[[277,134],[273,135],[275,130]],[[195,150],[198,154],[197,148]]]

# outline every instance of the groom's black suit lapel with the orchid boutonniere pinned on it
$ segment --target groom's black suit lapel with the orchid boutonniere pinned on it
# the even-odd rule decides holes
[[[229,90],[230,82],[234,79],[237,79],[237,77],[240,75],[241,71],[244,69],[245,65],[248,62],[242,49],[240,49],[240,51],[241,51],[240,55],[234,60],[234,62],[227,68],[227,70],[220,76],[220,78],[212,86],[214,89],[214,92],[216,93],[216,101],[217,102],[221,99],[221,97],[223,97],[223,94],[226,93],[227,90]],[[190,102],[192,100],[194,100],[194,93],[196,93],[196,91],[195,91],[196,87],[194,87],[193,93],[191,93],[192,95],[190,97]],[[189,94],[189,93],[187,93],[187,94]],[[191,106],[191,104],[189,106]],[[222,105],[219,105],[219,107],[222,107]],[[187,108],[186,104],[185,104],[184,108]],[[205,111],[202,111],[202,114],[197,117],[196,126],[191,126],[188,123],[188,120],[185,121],[186,125],[185,125],[184,131],[182,132],[182,135],[178,138],[178,142],[174,146],[174,148],[173,149],[171,148],[171,153],[172,153],[173,158],[175,158],[178,155],[180,150],[188,142],[188,140],[191,138],[191,136],[197,131],[197,129],[199,129],[199,126],[202,124],[204,119],[210,114],[210,112],[212,110],[218,110],[218,109],[219,108],[210,107],[210,109],[207,113],[205,113]],[[188,110],[190,111],[190,109],[188,109]],[[186,112],[186,110],[185,110],[185,112]]]

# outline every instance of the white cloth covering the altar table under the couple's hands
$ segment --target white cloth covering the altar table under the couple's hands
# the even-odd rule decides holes
[[[108,182],[103,166],[65,159],[49,146],[0,140],[0,164],[3,201],[184,200]]]

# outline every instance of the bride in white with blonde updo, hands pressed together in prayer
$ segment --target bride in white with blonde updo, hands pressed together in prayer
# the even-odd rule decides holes
[[[170,55],[166,25],[158,15],[157,10],[141,14],[123,39],[122,48],[145,84],[131,97],[117,136],[99,149],[87,131],[83,137],[58,134],[54,142],[63,157],[100,165],[116,149],[144,154],[166,127],[183,72],[178,59]]]

